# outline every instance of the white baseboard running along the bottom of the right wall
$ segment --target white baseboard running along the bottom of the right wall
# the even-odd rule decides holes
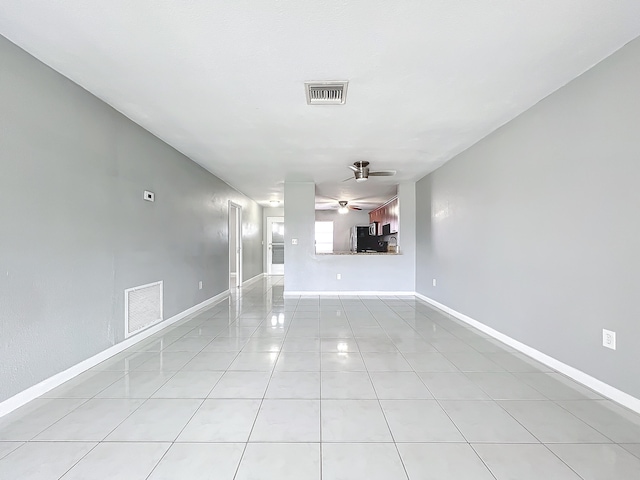
[[[449,308],[446,305],[443,305],[442,303],[437,302],[420,293],[416,292],[415,295],[419,299],[424,300],[425,302],[433,305],[434,307],[439,308],[440,310],[448,313],[449,315],[457,318],[458,320],[461,320],[464,323],[471,325],[474,328],[477,328],[481,332],[486,333],[487,335],[495,338],[496,340],[501,341],[502,343],[510,346],[511,348],[515,348],[519,352],[522,352],[525,355],[528,355],[534,360],[537,360],[538,362],[543,363],[546,366],[553,368],[554,370],[557,370],[558,372],[566,375],[567,377],[574,379],[576,382],[579,382],[584,386],[590,388],[591,390],[598,392],[600,395],[610,398],[614,402],[617,402],[620,405],[623,405],[628,409],[633,410],[634,412],[640,413],[640,399],[633,397],[628,393],[623,392],[622,390],[618,390],[617,388],[612,387],[611,385],[604,383],[603,381],[598,380],[597,378],[592,377],[591,375],[584,373],[583,371],[578,370],[577,368],[567,365],[566,363],[562,363],[560,360],[556,360],[555,358],[550,357],[549,355],[542,353],[541,351],[536,350],[535,348],[532,348],[529,345],[525,345],[524,343],[519,342],[518,340],[515,340],[514,338],[511,338],[505,335],[504,333],[494,330],[493,328],[488,327],[484,323],[481,323],[478,320],[474,320],[473,318],[465,315],[464,313],[460,313],[454,310],[453,308]]]

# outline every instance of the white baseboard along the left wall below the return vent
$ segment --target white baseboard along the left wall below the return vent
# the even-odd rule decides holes
[[[193,307],[188,308],[183,312],[180,312],[177,315],[174,315],[173,317],[164,320],[163,322],[157,323],[154,326],[147,328],[146,330],[142,330],[141,332],[136,333],[135,335],[132,335],[126,340],[123,340],[120,343],[116,343],[115,345],[107,348],[106,350],[103,350],[102,352],[94,355],[93,357],[87,358],[86,360],[83,360],[82,362],[75,364],[73,367],[70,367],[60,373],[57,373],[52,377],[49,377],[46,380],[43,380],[42,382],[27,388],[26,390],[23,390],[22,392],[14,395],[13,397],[6,399],[4,402],[0,403],[0,417],[14,411],[15,409],[23,406],[24,404],[30,402],[31,400],[38,398],[39,396],[44,395],[50,390],[53,390],[54,388],[62,385],[64,382],[67,382],[72,378],[77,377],[81,373],[86,372],[87,370],[95,367],[99,363],[104,362],[105,360],[113,357],[114,355],[117,355],[118,353],[126,350],[132,345],[135,345],[136,343],[139,343],[142,340],[150,337],[154,333],[157,333],[160,330],[167,328],[170,325],[173,325],[174,323],[179,322],[180,320],[194,314],[198,310],[202,310],[204,308],[210,307],[212,305],[215,305],[216,303],[221,302],[228,296],[229,296],[229,290],[225,290],[224,292],[219,293],[218,295],[211,297],[205,300],[204,302],[199,303],[198,305],[194,305]]]

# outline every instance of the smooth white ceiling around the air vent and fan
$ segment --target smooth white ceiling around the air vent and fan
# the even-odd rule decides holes
[[[0,0],[0,34],[264,205],[375,204],[640,35],[640,2]],[[356,160],[398,174],[341,182]]]

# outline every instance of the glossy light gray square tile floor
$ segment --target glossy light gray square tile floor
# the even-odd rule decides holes
[[[640,478],[639,415],[413,297],[282,280],[0,419],[0,479]]]

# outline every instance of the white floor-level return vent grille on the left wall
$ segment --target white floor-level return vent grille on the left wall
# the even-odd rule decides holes
[[[162,282],[124,291],[125,336],[162,321]]]

